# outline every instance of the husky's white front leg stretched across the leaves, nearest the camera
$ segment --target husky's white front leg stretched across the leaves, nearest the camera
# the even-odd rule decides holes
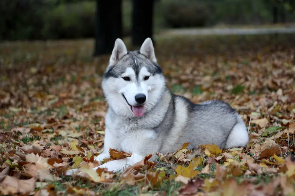
[[[134,165],[135,163],[141,161],[144,157],[145,156],[134,153],[131,155],[131,157],[127,157],[127,158],[119,159],[119,160],[113,160],[113,161],[104,163],[98,167],[107,168],[108,171],[122,172],[124,168],[130,165]],[[94,167],[93,169],[96,170],[98,167]]]

